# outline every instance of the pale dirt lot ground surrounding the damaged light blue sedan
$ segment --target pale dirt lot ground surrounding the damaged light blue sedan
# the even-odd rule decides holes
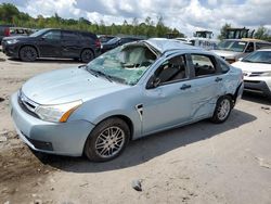
[[[224,124],[203,120],[132,141],[107,163],[31,152],[13,128],[11,93],[39,73],[77,65],[0,53],[0,204],[271,203],[271,104],[258,95],[245,94]]]

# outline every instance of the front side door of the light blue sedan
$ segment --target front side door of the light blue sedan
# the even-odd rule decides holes
[[[184,55],[164,62],[155,72],[157,87],[145,90],[143,135],[191,119],[191,84]]]

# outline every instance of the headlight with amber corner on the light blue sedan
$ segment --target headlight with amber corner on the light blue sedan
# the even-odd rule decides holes
[[[74,101],[59,105],[39,105],[35,113],[43,120],[65,123],[69,115],[82,104],[82,101]]]

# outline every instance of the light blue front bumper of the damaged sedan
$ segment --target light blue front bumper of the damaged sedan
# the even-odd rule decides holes
[[[20,138],[33,150],[60,155],[80,156],[85,142],[94,128],[89,122],[50,123],[26,113],[17,93],[11,97],[11,115]]]

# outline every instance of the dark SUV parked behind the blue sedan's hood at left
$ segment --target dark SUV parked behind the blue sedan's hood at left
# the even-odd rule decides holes
[[[88,31],[46,28],[30,36],[7,37],[3,52],[25,62],[37,58],[62,58],[87,63],[100,54],[101,42]]]

